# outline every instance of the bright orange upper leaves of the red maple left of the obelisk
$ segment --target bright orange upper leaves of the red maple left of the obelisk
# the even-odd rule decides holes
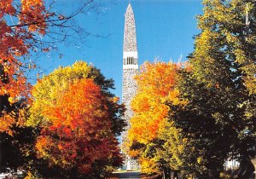
[[[63,95],[59,95],[55,105],[43,109],[43,114],[50,118],[54,126],[68,125],[71,130],[84,126],[82,135],[102,126],[109,127],[107,107],[99,85],[93,79],[80,79],[70,85]],[[104,120],[105,118],[105,120]],[[90,124],[100,122],[97,126]]]

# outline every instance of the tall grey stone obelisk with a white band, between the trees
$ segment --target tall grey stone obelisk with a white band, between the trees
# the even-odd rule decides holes
[[[127,130],[130,128],[130,118],[133,115],[131,110],[131,99],[136,95],[137,84],[134,80],[134,76],[138,72],[137,63],[137,37],[136,26],[131,3],[128,4],[125,13],[125,32],[124,32],[124,49],[123,49],[123,94],[122,99],[125,104],[125,121],[128,126],[126,131],[122,134],[122,142],[127,140]],[[126,156],[125,159],[126,170],[137,170],[137,161],[130,159]]]

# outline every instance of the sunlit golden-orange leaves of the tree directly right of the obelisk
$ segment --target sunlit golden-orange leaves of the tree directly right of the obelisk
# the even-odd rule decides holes
[[[166,101],[182,103],[178,99],[177,71],[181,65],[172,62],[145,62],[137,75],[137,95],[131,101],[134,116],[131,118],[129,138],[147,143],[158,135],[160,124],[167,117]]]

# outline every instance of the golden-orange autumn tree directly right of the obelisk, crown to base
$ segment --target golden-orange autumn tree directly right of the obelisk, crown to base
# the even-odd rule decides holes
[[[173,105],[186,103],[179,100],[179,91],[175,87],[180,68],[181,65],[172,62],[145,62],[135,78],[138,90],[131,101],[134,116],[128,133],[130,154],[138,158],[142,172],[148,175],[160,175],[162,170],[178,168],[169,160],[170,155],[164,155],[166,138],[163,134],[171,128],[177,132],[172,122],[167,120],[170,109],[166,102],[170,101]],[[174,142],[174,138],[169,139]]]

